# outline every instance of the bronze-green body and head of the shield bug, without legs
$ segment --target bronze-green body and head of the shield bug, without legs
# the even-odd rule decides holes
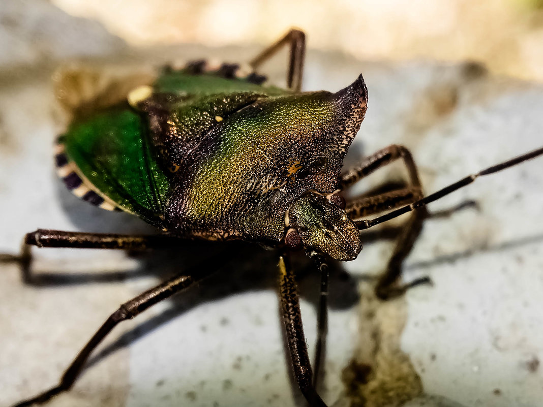
[[[362,76],[293,92],[195,66],[77,117],[57,156],[68,187],[182,237],[276,246],[292,224],[306,250],[356,258],[357,227],[325,197],[364,118]]]

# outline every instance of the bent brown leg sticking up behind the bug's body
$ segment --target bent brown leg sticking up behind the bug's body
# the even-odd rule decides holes
[[[290,44],[291,56],[288,62],[287,86],[294,91],[300,91],[302,76],[304,75],[305,59],[305,34],[303,31],[292,29],[268,48],[264,49],[249,62],[253,69],[257,69],[262,63],[271,58],[281,47]]]

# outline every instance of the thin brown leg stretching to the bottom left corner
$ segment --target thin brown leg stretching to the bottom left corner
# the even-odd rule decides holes
[[[206,270],[198,269],[198,271],[192,275],[177,275],[122,304],[96,331],[85,347],[81,349],[77,357],[75,357],[70,366],[68,366],[62,375],[60,383],[57,386],[52,387],[52,389],[49,389],[36,397],[24,400],[16,404],[14,407],[45,403],[47,400],[58,395],[59,393],[70,390],[75,380],[78,378],[79,373],[83,369],[87,359],[89,359],[92,351],[94,351],[98,344],[102,342],[106,335],[108,335],[119,322],[134,318],[136,315],[142,313],[144,310],[153,306],[154,304],[162,300],[166,300],[166,298],[171,297],[177,292],[190,287],[198,281],[201,281],[201,279],[210,276],[216,269],[216,267],[212,266]]]

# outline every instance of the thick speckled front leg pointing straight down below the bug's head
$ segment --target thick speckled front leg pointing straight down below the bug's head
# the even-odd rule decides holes
[[[326,407],[323,399],[315,391],[312,383],[312,371],[307,345],[304,336],[304,327],[300,314],[300,302],[296,292],[294,273],[285,256],[279,258],[279,294],[281,297],[281,310],[285,331],[287,334],[288,349],[291,354],[294,377],[304,397],[312,407]]]

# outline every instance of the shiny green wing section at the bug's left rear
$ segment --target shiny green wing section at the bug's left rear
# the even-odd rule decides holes
[[[170,181],[157,162],[148,131],[146,121],[122,104],[75,120],[61,142],[91,189],[160,226]]]

